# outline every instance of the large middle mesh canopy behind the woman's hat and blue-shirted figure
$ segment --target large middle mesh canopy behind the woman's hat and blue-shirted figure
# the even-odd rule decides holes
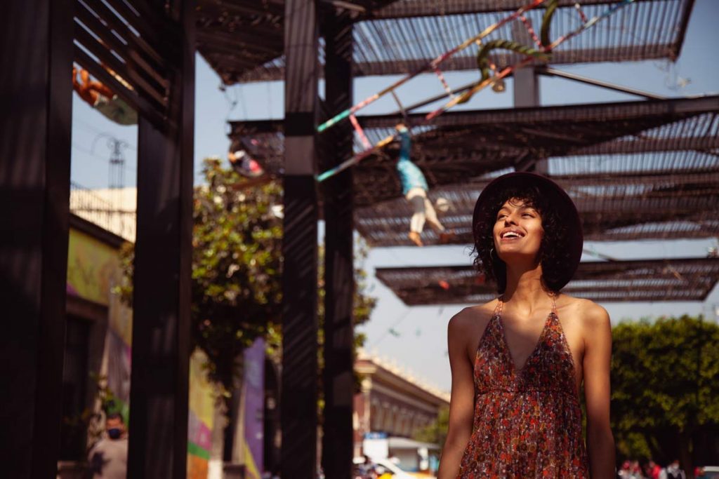
[[[370,141],[398,116],[360,117]],[[232,124],[269,169],[282,164],[280,121]],[[413,159],[440,215],[470,243],[475,200],[491,177],[546,159],[572,196],[589,240],[719,236],[719,97],[446,113],[413,131]],[[372,246],[410,244],[412,212],[395,174],[396,147],[354,167],[356,227]],[[423,233],[433,243],[431,230]]]

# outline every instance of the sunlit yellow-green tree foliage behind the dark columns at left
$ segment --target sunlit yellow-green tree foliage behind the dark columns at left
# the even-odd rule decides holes
[[[265,338],[270,358],[280,361],[282,188],[278,182],[242,188],[244,178],[219,159],[206,159],[203,175],[194,195],[192,340],[207,355],[209,378],[229,392],[255,339]],[[116,288],[130,305],[133,252],[132,244],[123,248],[124,279]],[[364,294],[365,272],[356,269],[355,276],[357,325],[369,319],[375,299]],[[355,335],[356,345],[364,339]]]

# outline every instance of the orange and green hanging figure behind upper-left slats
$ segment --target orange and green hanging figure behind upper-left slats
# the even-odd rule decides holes
[[[109,73],[115,76],[120,82],[124,83],[127,88],[132,89],[122,78],[116,75],[112,70]],[[78,73],[80,80],[78,81]],[[88,70],[73,67],[73,89],[78,93],[88,105],[102,113],[106,118],[120,125],[136,125],[137,111],[127,104],[122,98],[117,96],[112,90],[97,80],[90,80]]]

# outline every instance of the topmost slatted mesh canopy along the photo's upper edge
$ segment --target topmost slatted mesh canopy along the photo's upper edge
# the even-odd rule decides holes
[[[528,1],[516,0],[399,0],[324,1],[321,7],[347,8],[354,27],[354,75],[411,73],[464,42]],[[562,0],[551,24],[552,37],[577,28],[580,14],[574,1]],[[608,0],[581,1],[593,17],[605,11]],[[554,51],[552,64],[668,58],[675,60],[684,41],[692,0],[641,0],[621,9]],[[526,18],[539,29],[544,9]],[[282,1],[198,0],[198,50],[224,83],[282,80]],[[526,33],[524,27],[520,31]],[[516,24],[507,24],[487,37],[518,39]],[[520,34],[521,35],[521,34]],[[501,50],[491,59],[499,67],[516,55]],[[477,47],[470,47],[441,64],[441,69],[473,70]],[[324,50],[319,57],[324,61]]]

